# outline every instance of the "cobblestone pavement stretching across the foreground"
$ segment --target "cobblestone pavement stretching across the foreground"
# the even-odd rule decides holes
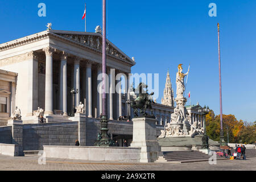
[[[256,158],[247,160],[217,160],[217,164],[208,162],[196,163],[118,163],[118,162],[92,162],[85,160],[69,160],[47,158],[46,164],[38,164],[39,156],[12,157],[0,155],[1,171],[232,171],[256,170]],[[239,165],[238,165],[239,164]]]

